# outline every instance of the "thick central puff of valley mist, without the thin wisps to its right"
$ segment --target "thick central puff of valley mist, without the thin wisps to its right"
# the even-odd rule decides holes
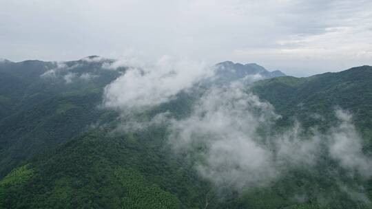
[[[216,184],[258,186],[278,175],[272,153],[256,133],[276,118],[273,107],[253,94],[214,89],[201,98],[192,116],[173,122],[170,142],[186,153],[200,147],[198,170]]]

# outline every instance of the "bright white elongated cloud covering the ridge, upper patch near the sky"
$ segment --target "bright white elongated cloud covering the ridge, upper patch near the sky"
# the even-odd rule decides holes
[[[163,56],[156,65],[130,67],[105,87],[103,105],[118,109],[152,107],[213,74],[203,63]]]

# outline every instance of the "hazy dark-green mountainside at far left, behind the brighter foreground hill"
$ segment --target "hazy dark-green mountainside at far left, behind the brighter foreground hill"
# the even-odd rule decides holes
[[[0,65],[0,177],[110,115],[99,104],[103,87],[120,71],[103,69],[104,64],[85,58]],[[68,75],[74,75],[69,82]]]

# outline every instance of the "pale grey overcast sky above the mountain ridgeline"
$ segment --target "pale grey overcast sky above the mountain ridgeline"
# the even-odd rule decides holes
[[[372,65],[372,1],[0,0],[0,58],[163,55],[294,76]]]

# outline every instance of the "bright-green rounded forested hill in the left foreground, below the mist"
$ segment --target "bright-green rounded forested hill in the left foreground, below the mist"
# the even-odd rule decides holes
[[[202,208],[209,184],[163,149],[162,134],[78,137],[36,157],[32,178],[2,187],[0,202],[6,208],[179,208],[181,201],[183,208]]]

